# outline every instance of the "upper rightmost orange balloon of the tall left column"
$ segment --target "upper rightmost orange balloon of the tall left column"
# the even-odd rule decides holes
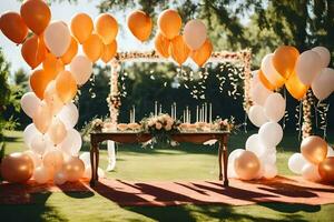
[[[104,44],[110,44],[117,36],[118,24],[114,17],[101,13],[95,23],[96,32],[101,37]]]

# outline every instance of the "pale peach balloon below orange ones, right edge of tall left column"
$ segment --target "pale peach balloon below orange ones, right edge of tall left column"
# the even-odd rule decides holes
[[[92,63],[86,56],[77,56],[70,63],[70,72],[77,84],[85,84],[92,73]]]

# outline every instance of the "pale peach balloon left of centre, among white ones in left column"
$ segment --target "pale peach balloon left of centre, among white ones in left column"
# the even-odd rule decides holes
[[[46,133],[48,131],[52,121],[52,112],[45,101],[42,101],[36,110],[32,121],[39,132]]]

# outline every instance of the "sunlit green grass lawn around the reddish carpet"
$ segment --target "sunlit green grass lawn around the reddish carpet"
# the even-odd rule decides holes
[[[24,150],[21,132],[7,132],[6,153]],[[243,148],[247,134],[233,135],[229,151]],[[333,138],[330,138],[333,143]],[[299,141],[286,134],[277,148],[281,175],[289,175],[287,159],[298,151]],[[82,150],[88,150],[85,144]],[[115,172],[108,178],[129,181],[216,180],[218,174],[217,147],[181,144],[170,149],[143,149],[121,145]],[[107,165],[107,153],[101,151],[100,167]],[[98,193],[39,193],[35,204],[0,205],[0,221],[331,221],[334,204],[307,205],[262,203],[249,206],[179,205],[119,206]],[[332,216],[332,218],[331,218]],[[2,220],[3,219],[3,220]]]

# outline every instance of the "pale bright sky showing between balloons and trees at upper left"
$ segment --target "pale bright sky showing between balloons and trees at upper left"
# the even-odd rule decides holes
[[[72,4],[68,3],[67,1],[61,3],[53,2],[50,7],[52,14],[51,20],[62,20],[69,24],[71,18],[78,12],[85,12],[95,19],[99,14],[97,9],[98,3],[98,0],[78,0],[78,3]],[[0,14],[4,13],[6,11],[20,12],[20,6],[21,2],[18,0],[0,0]],[[117,36],[119,51],[151,50],[154,47],[153,41],[148,43],[140,43],[126,28],[126,14],[128,14],[127,11],[112,14],[120,26],[120,31]],[[2,48],[6,60],[11,63],[12,73],[20,68],[23,68],[27,72],[31,72],[30,67],[21,57],[21,46],[17,47],[16,43],[7,39],[2,32],[0,32],[0,47]]]

